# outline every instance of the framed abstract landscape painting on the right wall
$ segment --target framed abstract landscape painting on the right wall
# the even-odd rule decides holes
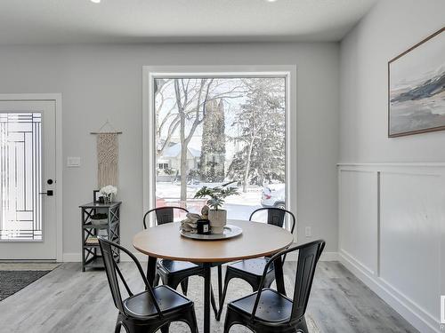
[[[445,130],[444,31],[388,62],[388,137]]]

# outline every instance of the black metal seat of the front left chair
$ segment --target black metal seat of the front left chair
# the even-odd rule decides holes
[[[167,286],[158,286],[153,288],[153,293],[158,301],[161,312],[166,313],[177,309],[178,307],[192,305],[190,299],[183,297],[181,294]],[[128,297],[123,302],[125,312],[137,318],[146,318],[157,315],[156,307],[153,304],[149,291],[143,291],[140,294]]]

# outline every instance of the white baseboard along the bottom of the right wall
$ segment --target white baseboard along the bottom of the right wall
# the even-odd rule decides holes
[[[353,258],[339,253],[340,262],[357,276],[369,289],[373,290],[379,297],[381,297],[388,305],[395,311],[401,314],[411,325],[422,333],[438,333],[441,332],[440,324],[433,321],[433,319],[425,313],[421,308],[412,302],[405,301],[403,295],[387,286],[377,276],[370,275],[367,271],[360,267],[360,264],[355,263]]]

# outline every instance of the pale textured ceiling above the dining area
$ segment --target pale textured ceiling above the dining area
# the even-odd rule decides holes
[[[338,41],[376,0],[0,0],[0,44]]]

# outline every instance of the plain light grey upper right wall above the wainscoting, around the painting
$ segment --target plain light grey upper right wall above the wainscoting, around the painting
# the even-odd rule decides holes
[[[444,26],[443,0],[381,0],[344,38],[340,162],[445,161],[445,131],[387,136],[388,60]]]

